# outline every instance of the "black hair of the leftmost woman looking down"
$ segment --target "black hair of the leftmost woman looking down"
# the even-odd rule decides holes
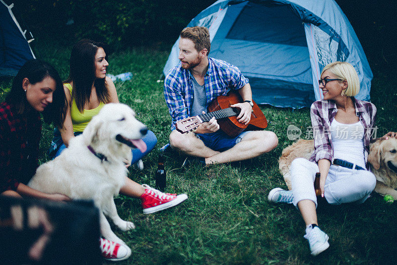
[[[37,59],[27,61],[15,76],[12,88],[7,94],[5,101],[14,104],[19,114],[25,113],[31,109],[31,106],[22,88],[22,81],[27,78],[29,83],[34,85],[42,82],[46,77],[54,79],[56,87],[53,93],[52,103],[44,108],[44,121],[49,124],[54,122],[55,126],[62,127],[65,121],[67,108],[65,90],[57,70],[49,63]]]

